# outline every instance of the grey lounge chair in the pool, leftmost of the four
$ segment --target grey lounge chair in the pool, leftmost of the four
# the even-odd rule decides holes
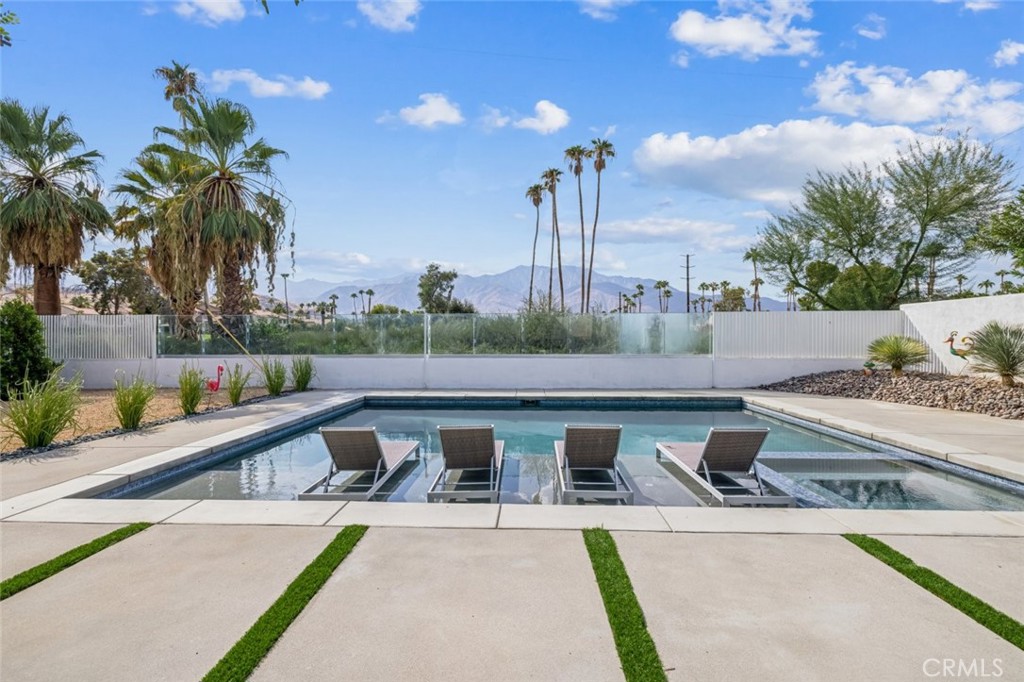
[[[299,500],[370,500],[411,455],[420,456],[418,440],[381,440],[373,427],[324,427],[319,432],[331,454],[330,468]],[[342,471],[351,475],[333,484]]]

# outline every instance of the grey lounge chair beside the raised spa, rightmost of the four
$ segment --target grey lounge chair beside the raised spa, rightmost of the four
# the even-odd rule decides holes
[[[675,463],[695,483],[684,486],[703,504],[721,507],[795,507],[787,495],[775,495],[761,480],[754,461],[768,429],[717,429],[701,442],[657,442],[655,457]],[[695,488],[695,489],[694,489]]]

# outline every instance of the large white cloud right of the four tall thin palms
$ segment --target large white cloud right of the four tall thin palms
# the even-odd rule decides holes
[[[723,137],[656,133],[633,154],[637,169],[658,184],[785,206],[815,169],[874,166],[919,137],[903,126],[843,126],[826,117],[757,125]]]

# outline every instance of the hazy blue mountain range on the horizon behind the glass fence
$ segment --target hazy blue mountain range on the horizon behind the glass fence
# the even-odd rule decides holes
[[[565,286],[565,303],[570,310],[580,309],[580,268],[563,267],[562,275]],[[313,301],[328,301],[332,294],[338,296],[339,312],[349,311],[349,306],[353,310],[362,309],[362,301],[359,291],[373,290],[373,303],[385,303],[396,305],[407,310],[415,310],[420,306],[419,299],[420,275],[411,273],[401,278],[393,278],[382,281],[360,280],[357,282],[333,283],[323,280],[299,280],[288,283],[288,297],[291,305],[298,303],[309,303]],[[657,311],[657,291],[654,289],[655,280],[644,278],[630,278],[621,275],[608,275],[595,271],[591,287],[591,309],[611,310],[618,307],[618,296],[625,294],[632,296],[636,293],[636,286],[643,285],[644,295],[641,298],[642,310],[647,312]],[[669,299],[670,312],[686,311],[686,293],[674,287],[672,297]],[[534,278],[534,290],[548,290],[548,268],[538,267]],[[558,272],[554,272],[553,290],[555,300],[558,299]],[[505,272],[497,274],[460,274],[455,281],[455,297],[467,300],[472,303],[479,312],[515,312],[524,307],[526,295],[529,291],[529,267],[519,265]],[[284,297],[284,290],[279,287],[274,292],[275,296]],[[352,299],[355,294],[355,299]],[[364,294],[365,296],[365,294]],[[692,300],[696,300],[699,292],[690,291]],[[370,302],[367,301],[367,305]],[[748,300],[750,306],[750,300]],[[784,310],[785,303],[772,298],[761,299],[761,307],[764,310]]]

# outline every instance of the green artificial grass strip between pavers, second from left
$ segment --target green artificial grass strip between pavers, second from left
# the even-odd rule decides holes
[[[203,682],[246,680],[263,657],[299,616],[309,600],[319,592],[334,569],[344,561],[367,531],[365,525],[347,525],[331,544],[285,589],[284,594],[259,616],[234,646],[217,662]]]

